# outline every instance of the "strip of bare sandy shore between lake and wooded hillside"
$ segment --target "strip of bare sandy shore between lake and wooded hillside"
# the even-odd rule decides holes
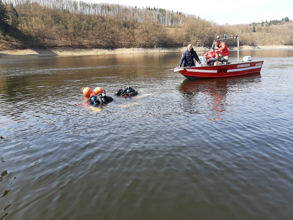
[[[210,47],[196,47],[197,52],[208,51]],[[228,47],[229,50],[237,50],[237,47]],[[259,50],[259,49],[293,49],[292,45],[273,45],[273,46],[240,46],[240,50]],[[20,49],[20,50],[2,50],[0,58],[11,57],[41,57],[41,56],[83,56],[83,55],[113,55],[113,54],[140,54],[140,53],[167,53],[167,52],[184,52],[186,47],[176,48],[118,48],[118,49]]]

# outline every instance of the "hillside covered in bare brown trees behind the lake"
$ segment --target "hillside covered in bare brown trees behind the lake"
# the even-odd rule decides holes
[[[0,0],[0,30],[1,49],[211,46],[217,34],[238,34],[241,44],[251,46],[293,45],[293,22],[288,17],[217,25],[162,8],[73,0]]]

